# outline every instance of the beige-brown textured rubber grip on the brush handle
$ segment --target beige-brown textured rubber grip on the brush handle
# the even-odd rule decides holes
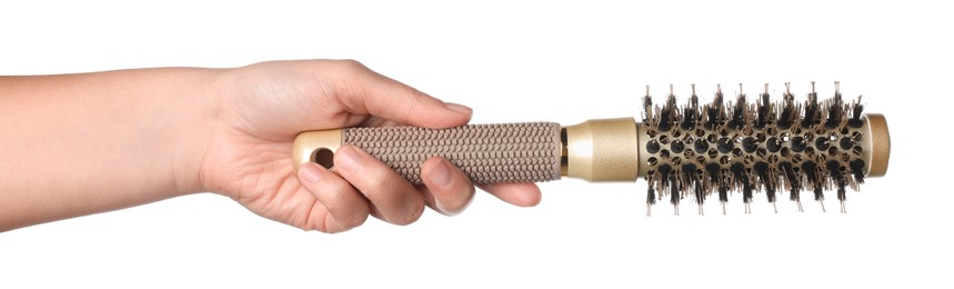
[[[450,129],[351,128],[342,142],[362,148],[415,185],[421,165],[440,156],[474,183],[560,179],[560,124],[524,122],[470,124]]]

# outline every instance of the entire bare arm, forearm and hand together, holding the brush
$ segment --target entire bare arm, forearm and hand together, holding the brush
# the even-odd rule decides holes
[[[334,171],[294,171],[291,142],[308,130],[450,128],[471,116],[350,60],[0,77],[0,231],[198,192],[323,232],[368,216],[409,225],[425,207],[451,216],[474,186],[448,160],[425,161],[415,187],[354,147],[335,153]],[[533,183],[481,189],[521,207],[541,198]]]

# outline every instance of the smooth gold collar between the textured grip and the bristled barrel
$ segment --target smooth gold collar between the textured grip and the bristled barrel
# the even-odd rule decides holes
[[[589,181],[634,181],[639,132],[633,118],[588,120],[565,127],[566,177]]]

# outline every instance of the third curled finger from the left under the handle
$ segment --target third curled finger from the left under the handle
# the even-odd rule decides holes
[[[434,157],[421,166],[428,203],[435,211],[454,216],[466,209],[474,197],[474,186],[463,171],[446,159]]]

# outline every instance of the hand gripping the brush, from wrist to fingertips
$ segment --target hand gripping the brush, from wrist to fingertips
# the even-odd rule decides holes
[[[471,180],[440,157],[423,163],[414,187],[359,148],[334,156],[335,171],[314,163],[295,175],[291,147],[301,131],[343,127],[465,124],[471,110],[445,103],[355,61],[279,61],[228,70],[217,83],[219,111],[199,179],[265,218],[304,230],[340,232],[369,215],[394,225],[418,220],[424,206],[455,215],[474,195]],[[482,186],[516,206],[535,206],[533,183]]]

